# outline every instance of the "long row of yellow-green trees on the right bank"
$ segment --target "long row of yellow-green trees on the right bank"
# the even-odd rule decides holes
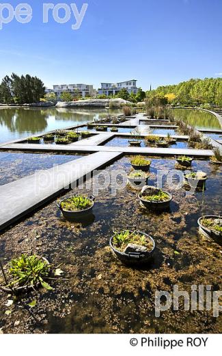
[[[155,97],[180,105],[222,105],[222,78],[190,79],[177,85],[159,86],[146,92],[148,100]]]

